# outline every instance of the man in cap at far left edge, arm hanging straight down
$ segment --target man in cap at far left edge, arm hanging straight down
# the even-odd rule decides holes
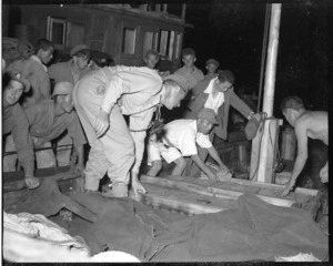
[[[2,135],[11,134],[6,142],[6,152],[17,151],[17,155],[3,156],[3,172],[16,171],[17,158],[24,170],[24,181],[29,188],[39,186],[34,177],[33,143],[29,134],[27,115],[18,103],[23,92],[30,90],[30,82],[17,70],[2,75]],[[7,136],[8,137],[8,136]]]

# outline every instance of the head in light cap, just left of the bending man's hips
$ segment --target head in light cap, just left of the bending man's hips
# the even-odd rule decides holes
[[[58,82],[52,93],[54,102],[59,104],[67,113],[72,112],[74,108],[72,93],[73,85],[67,81]]]

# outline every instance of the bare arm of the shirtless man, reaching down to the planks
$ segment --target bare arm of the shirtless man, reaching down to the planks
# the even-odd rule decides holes
[[[301,174],[305,162],[307,160],[307,135],[306,135],[306,121],[305,120],[301,120],[297,121],[295,124],[295,135],[296,135],[296,140],[297,140],[297,157],[294,164],[294,168],[292,172],[292,176],[290,182],[285,185],[285,188],[282,193],[283,196],[287,195],[290,193],[290,191],[294,187],[295,182],[299,177],[299,175]]]

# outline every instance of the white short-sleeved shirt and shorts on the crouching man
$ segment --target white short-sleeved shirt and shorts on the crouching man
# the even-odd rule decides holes
[[[198,154],[196,144],[202,149],[209,149],[212,143],[209,135],[198,132],[196,120],[175,120],[164,125],[165,137],[162,143],[149,142],[148,144],[148,165],[151,162],[161,160],[161,156],[171,163],[183,156],[192,156]],[[165,147],[172,145],[171,147]]]

